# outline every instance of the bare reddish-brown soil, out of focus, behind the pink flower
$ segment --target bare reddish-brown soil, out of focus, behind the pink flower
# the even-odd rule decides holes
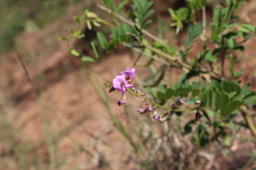
[[[65,155],[75,155],[68,163],[67,167],[69,168],[67,169],[78,163],[81,164],[81,169],[95,169],[97,155],[103,155],[113,170],[122,167],[124,169],[136,168],[136,165],[124,163],[128,159],[131,148],[111,125],[107,108],[88,82],[85,71],[81,69],[80,59],[68,55],[65,44],[57,41],[58,37],[67,34],[67,27],[74,24],[73,15],[71,12],[68,17],[46,26],[37,34],[24,32],[18,38],[18,51],[41,91],[39,95],[33,92],[31,85],[27,82],[24,70],[16,58],[16,53],[10,51],[1,56],[1,93],[4,93],[5,97],[11,101],[9,105],[14,106],[12,114],[18,114],[18,120],[12,124],[14,127],[18,127],[24,122],[26,123],[24,130],[19,135],[21,142],[41,144],[40,147],[35,148],[34,152],[46,161],[48,145],[45,120],[48,119],[50,122],[50,131],[53,134],[58,134],[64,127],[72,125],[79,119],[85,119],[80,126],[61,136],[56,146],[55,154],[59,154],[61,158]],[[256,26],[256,9],[249,10],[247,17]],[[62,27],[63,25],[67,27]],[[172,41],[176,42],[177,40]],[[256,89],[256,38],[246,42],[245,45],[246,52],[239,54],[239,56],[244,55],[245,57],[236,69],[247,69],[245,76],[239,79],[245,83],[251,83],[252,88]],[[195,47],[193,51],[196,52],[198,49]],[[90,53],[90,51],[88,52]],[[134,61],[127,51],[111,53],[102,58],[99,63],[91,64],[91,68],[100,75],[98,77],[99,86],[105,79],[112,79],[126,67],[132,67]],[[93,78],[93,80],[96,79]],[[118,115],[122,122],[125,122],[123,108],[116,104],[120,97],[119,93],[114,92],[107,96],[114,114]],[[136,98],[130,99],[134,102],[136,100]],[[98,142],[96,145],[89,146],[87,149],[92,155],[77,151],[78,146],[75,145],[75,143],[80,143],[83,146],[90,144],[93,138],[88,132],[107,143]],[[225,156],[221,156],[221,158],[225,158]],[[219,163],[227,162],[223,159],[218,161]]]

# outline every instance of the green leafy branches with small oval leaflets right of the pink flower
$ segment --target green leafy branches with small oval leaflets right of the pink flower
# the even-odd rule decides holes
[[[139,53],[137,60],[142,56],[148,57],[146,64],[140,65],[149,70],[150,76],[145,79],[146,82],[152,80],[154,82],[152,84],[142,83],[145,87],[144,92],[147,93],[140,96],[137,92],[136,95],[142,97],[144,102],[151,102],[157,111],[160,108],[164,111],[168,110],[161,117],[165,121],[172,121],[173,117],[168,115],[173,113],[178,117],[185,117],[183,115],[186,114],[183,113],[186,111],[189,114],[195,114],[195,119],[188,120],[182,127],[183,135],[190,134],[194,144],[204,147],[216,141],[223,146],[229,146],[230,134],[227,133],[227,129],[235,132],[234,127],[238,126],[234,125],[234,118],[238,116],[241,108],[250,109],[256,104],[256,92],[249,90],[250,85],[241,87],[240,82],[237,81],[244,70],[234,70],[234,65],[240,58],[235,59],[233,56],[236,56],[237,51],[245,50],[242,43],[256,34],[255,26],[241,24],[238,22],[238,16],[235,16],[241,1],[226,0],[226,4],[215,5],[212,19],[207,19],[207,21],[196,17],[199,12],[205,14],[207,0],[187,0],[187,6],[183,8],[177,10],[169,8],[168,11],[173,19],[171,26],[176,26],[177,34],[183,30],[185,24],[188,25],[187,39],[183,42],[183,49],[146,31],[146,26],[153,21],[148,19],[153,14],[153,10],[150,9],[153,1],[133,0],[129,18],[127,18],[129,22],[120,17],[120,14],[125,13],[121,11],[127,2],[124,0],[116,5],[113,0],[101,1],[101,4],[112,11],[113,22],[111,23],[115,24],[103,20],[92,12],[90,14],[93,14],[93,18],[85,18],[89,29],[93,27],[88,26],[88,23],[93,22],[110,26],[110,35],[106,36],[97,32],[98,41],[91,42],[96,59],[100,59],[96,44],[99,44],[99,47],[106,52],[122,44]],[[75,21],[79,25],[82,23],[79,17],[76,17]],[[134,23],[130,23],[132,21]],[[210,35],[208,35],[208,29],[211,31]],[[76,32],[71,31],[73,37],[76,36],[74,33]],[[69,41],[69,39],[62,40]],[[192,55],[190,50],[196,42],[199,42],[197,45],[201,44],[202,48],[198,50],[200,52],[197,55]],[[77,55],[74,51],[72,53]],[[95,61],[90,57],[82,58],[82,60]],[[221,66],[219,66],[219,60]],[[152,64],[154,62],[159,63]],[[224,70],[227,62],[230,62],[228,71],[231,76],[229,78],[225,76],[227,70]],[[179,81],[173,82],[172,75],[169,73],[167,73],[168,76],[165,75],[168,68],[183,71]],[[176,74],[173,69],[171,72]],[[180,98],[184,101],[178,102]],[[181,106],[183,102],[186,103],[184,110]],[[189,119],[191,116],[186,118]],[[116,121],[115,118],[113,121]],[[151,126],[152,122],[149,124]]]

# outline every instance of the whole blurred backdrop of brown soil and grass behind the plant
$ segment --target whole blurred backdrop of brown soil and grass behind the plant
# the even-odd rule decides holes
[[[210,1],[208,17],[214,3],[217,2]],[[187,28],[175,35],[168,8],[184,5],[185,0],[154,0],[154,23],[147,30],[182,48]],[[227,140],[225,146],[214,143],[199,148],[175,126],[169,131],[166,148],[161,146],[164,151],[157,149],[156,140],[143,147],[146,155],[153,151],[158,154],[146,158],[144,153],[136,155],[127,138],[113,126],[111,114],[128,128],[135,141],[141,139],[136,135],[152,131],[151,136],[161,136],[156,128],[165,125],[144,125],[149,119],[137,115],[139,99],[130,95],[129,102],[119,107],[119,93],[106,95],[107,90],[102,89],[104,80],[112,80],[117,73],[133,66],[133,52],[119,47],[102,54],[100,62],[90,65],[94,71],[89,74],[81,59],[67,52],[67,44],[59,42],[60,37],[69,34],[68,28],[77,27],[73,17],[80,16],[85,9],[109,18],[93,0],[0,0],[0,170],[253,169],[256,145],[248,140],[248,130]],[[243,22],[256,26],[256,0],[247,0],[239,10]],[[90,41],[97,30],[84,26],[86,36],[69,45],[93,55]],[[245,46],[237,67],[247,71],[240,80],[251,83],[256,90],[256,39]],[[196,56],[197,51],[194,47],[192,55]],[[148,73],[144,68],[136,69],[140,73],[136,82],[139,84]],[[173,80],[177,77],[173,75]],[[184,126],[186,122],[178,123]],[[139,132],[135,134],[133,130]]]

